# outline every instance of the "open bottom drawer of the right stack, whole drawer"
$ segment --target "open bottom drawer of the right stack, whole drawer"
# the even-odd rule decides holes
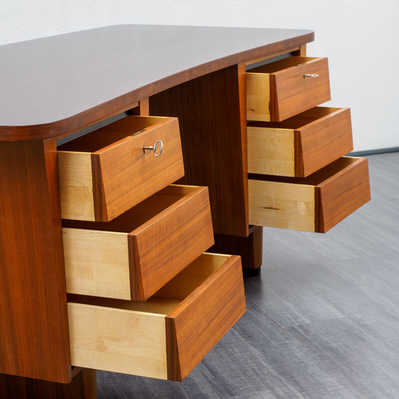
[[[342,157],[306,178],[248,176],[249,223],[326,232],[370,200],[366,158]]]

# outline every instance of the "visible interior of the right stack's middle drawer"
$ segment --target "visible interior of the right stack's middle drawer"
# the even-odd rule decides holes
[[[261,122],[251,121],[247,126],[259,128],[272,128],[272,129],[292,129],[298,130],[309,123],[316,122],[317,120],[340,111],[342,108],[333,107],[314,107],[298,115],[292,116],[281,122]]]

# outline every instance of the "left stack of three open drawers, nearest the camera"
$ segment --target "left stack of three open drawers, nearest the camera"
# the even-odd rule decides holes
[[[183,381],[245,312],[177,118],[128,116],[58,147],[73,366]]]

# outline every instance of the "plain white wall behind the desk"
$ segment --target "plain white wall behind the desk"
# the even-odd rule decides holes
[[[399,147],[398,0],[0,1],[0,44],[121,23],[313,29],[308,55],[329,57],[355,151]]]

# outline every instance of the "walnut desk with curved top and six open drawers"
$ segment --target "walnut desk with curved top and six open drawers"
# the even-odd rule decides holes
[[[182,381],[244,313],[260,226],[325,232],[369,200],[313,39],[120,25],[0,47],[1,398],[94,398],[96,369]]]

